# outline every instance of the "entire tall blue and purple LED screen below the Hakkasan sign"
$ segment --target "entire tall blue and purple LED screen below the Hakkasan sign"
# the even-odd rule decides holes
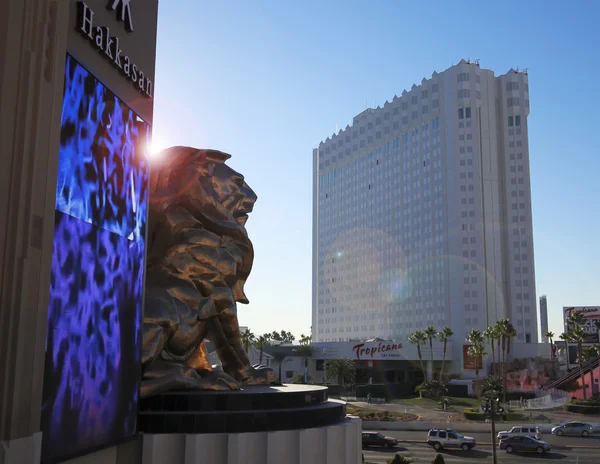
[[[67,56],[41,430],[43,462],[136,433],[150,126]]]

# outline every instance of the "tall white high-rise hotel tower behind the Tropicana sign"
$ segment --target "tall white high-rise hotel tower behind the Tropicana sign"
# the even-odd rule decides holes
[[[526,72],[462,60],[313,151],[314,341],[509,317],[538,341]]]

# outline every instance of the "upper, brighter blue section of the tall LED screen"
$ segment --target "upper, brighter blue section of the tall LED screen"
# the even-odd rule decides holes
[[[143,239],[150,126],[67,56],[56,209]]]

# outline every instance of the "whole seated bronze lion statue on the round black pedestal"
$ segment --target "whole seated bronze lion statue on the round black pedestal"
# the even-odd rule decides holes
[[[172,147],[150,168],[141,396],[275,383],[251,366],[236,303],[254,259],[245,228],[257,196],[216,150]],[[223,371],[211,369],[204,340]]]

